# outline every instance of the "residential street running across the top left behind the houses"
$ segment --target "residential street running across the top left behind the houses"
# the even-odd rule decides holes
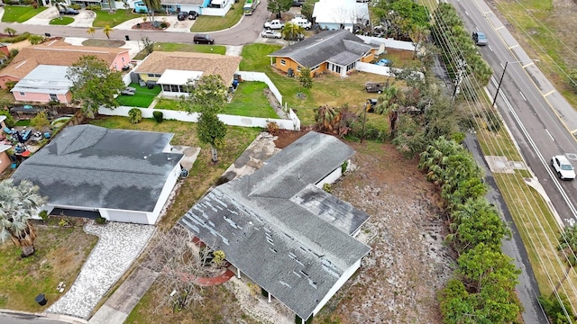
[[[243,16],[240,23],[224,31],[206,32],[215,38],[216,45],[245,45],[251,44],[259,37],[264,22],[269,17],[267,11],[267,0],[262,0],[254,14]],[[49,32],[51,36],[61,37],[89,37],[87,28],[67,27],[57,25],[29,25],[20,23],[0,23],[0,30],[4,31],[6,27],[14,28],[18,32],[29,31],[33,34],[43,35]],[[192,43],[193,33],[175,32],[175,31],[142,31],[142,30],[114,30],[110,34],[111,39],[124,40],[128,35],[131,40],[140,40],[148,36],[154,41],[169,41],[180,43]]]

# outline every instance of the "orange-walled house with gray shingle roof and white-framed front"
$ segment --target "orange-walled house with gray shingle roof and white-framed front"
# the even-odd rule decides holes
[[[321,31],[268,56],[272,66],[289,75],[310,67],[313,76],[323,72],[346,76],[357,62],[371,62],[378,49],[347,30]]]

